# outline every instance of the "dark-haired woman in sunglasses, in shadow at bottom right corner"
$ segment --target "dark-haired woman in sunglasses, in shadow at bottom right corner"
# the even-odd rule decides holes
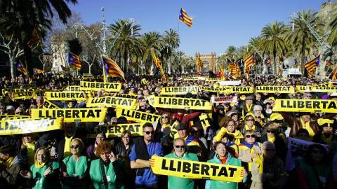
[[[305,158],[298,160],[300,188],[336,188],[333,181],[332,162],[326,149],[320,144],[308,146]]]

